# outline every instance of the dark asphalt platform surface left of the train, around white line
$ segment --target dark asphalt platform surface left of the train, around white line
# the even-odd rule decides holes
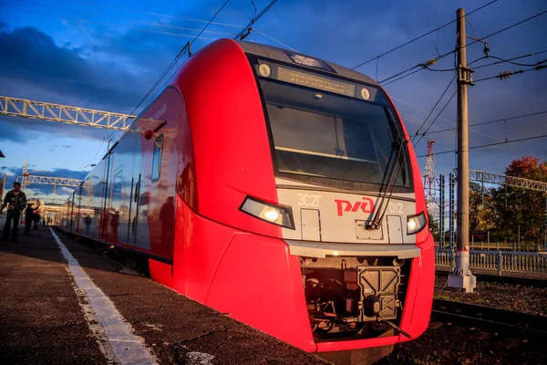
[[[67,265],[48,227],[19,235],[18,242],[0,243],[3,364],[328,363],[136,275],[66,235],[57,235],[87,279],[70,271],[74,266]],[[88,283],[84,289],[82,282]],[[109,328],[101,326],[103,319],[93,319],[99,318],[95,312],[100,310],[92,306],[102,293],[124,323]],[[107,315],[107,322],[114,319]],[[134,339],[112,338],[127,324]],[[120,360],[119,351],[129,352],[132,345],[142,345],[151,362],[141,355]]]

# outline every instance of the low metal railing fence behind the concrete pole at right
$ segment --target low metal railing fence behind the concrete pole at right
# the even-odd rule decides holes
[[[452,266],[451,251],[435,251],[435,265]],[[547,253],[470,251],[470,269],[503,273],[547,274]]]

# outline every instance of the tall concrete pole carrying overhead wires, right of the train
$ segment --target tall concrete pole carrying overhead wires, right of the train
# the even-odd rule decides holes
[[[470,271],[470,146],[467,86],[472,85],[472,70],[467,67],[465,10],[457,14],[458,34],[458,245],[456,266],[449,274],[449,287],[464,288],[472,293],[476,277]]]

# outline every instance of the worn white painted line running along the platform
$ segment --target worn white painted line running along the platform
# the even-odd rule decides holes
[[[63,245],[59,237],[49,227],[57,245],[68,262],[68,273],[74,278],[74,290],[80,305],[84,308],[84,315],[88,327],[96,336],[99,349],[105,355],[108,363],[151,365],[157,360],[150,354],[144,341],[133,334],[128,322],[119,314],[118,309],[105,294],[93,283],[84,269],[79,266],[67,246]],[[98,325],[94,323],[98,322]],[[99,327],[99,328],[97,328]],[[108,346],[104,346],[108,341]],[[103,346],[101,346],[101,342]],[[114,359],[112,359],[114,358]]]

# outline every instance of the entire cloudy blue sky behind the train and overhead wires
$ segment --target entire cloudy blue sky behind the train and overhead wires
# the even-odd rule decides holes
[[[304,54],[352,68],[455,19],[459,7],[469,13],[489,2],[280,0],[255,28]],[[0,0],[0,95],[129,113],[181,47],[198,34],[205,25],[203,21],[209,20],[223,3]],[[241,29],[238,26],[246,25],[253,17],[253,4],[260,12],[268,3],[230,1],[215,19],[220,24],[209,26],[193,51],[212,39],[232,37]],[[479,36],[488,36],[546,9],[542,0],[499,0],[469,18]],[[455,33],[456,26],[451,24],[358,70],[379,80],[388,78],[454,49]],[[470,26],[468,34],[475,36]],[[490,55],[510,58],[547,50],[545,35],[547,15],[491,36]],[[267,36],[253,33],[247,40],[279,46]],[[468,48],[470,61],[482,56],[480,44]],[[533,64],[545,58],[547,53],[519,61]],[[493,61],[481,60],[475,66]],[[453,68],[453,62],[452,56],[445,57],[434,68]],[[477,68],[474,78],[521,68],[526,67],[502,64]],[[452,77],[453,72],[422,70],[386,86],[410,132],[415,132],[428,116]],[[437,110],[455,88],[454,84],[449,87]],[[471,124],[547,110],[547,69],[478,82],[469,94]],[[470,146],[547,134],[546,118],[547,114],[542,114],[476,128],[470,132]],[[430,130],[452,128],[455,121],[456,98]],[[6,156],[0,160],[0,172],[8,175],[11,185],[26,161],[33,174],[82,178],[90,169],[86,166],[103,156],[108,138],[116,136],[109,130],[0,117],[0,150]],[[453,134],[437,133],[432,137],[436,141],[435,151],[455,147]],[[425,154],[427,140],[418,144],[418,155]],[[546,141],[471,150],[470,167],[501,173],[513,159],[524,155],[547,160]],[[437,156],[437,172],[448,174],[455,161],[453,153]],[[425,159],[420,158],[419,162],[423,169]],[[49,186],[31,185],[28,190],[51,193]]]

